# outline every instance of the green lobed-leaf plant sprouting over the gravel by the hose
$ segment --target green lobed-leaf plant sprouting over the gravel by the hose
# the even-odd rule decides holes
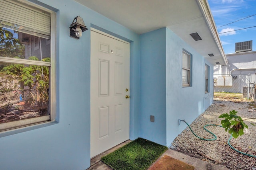
[[[225,131],[232,134],[232,137],[237,138],[239,135],[242,136],[244,134],[244,128],[248,129],[248,125],[236,114],[237,111],[232,110],[229,113],[223,113],[219,116],[219,118],[224,118],[221,121],[222,126],[225,128]]]

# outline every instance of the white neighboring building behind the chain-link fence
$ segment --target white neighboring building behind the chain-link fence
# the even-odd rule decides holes
[[[218,81],[214,84],[214,92],[244,93],[244,87],[248,87],[249,80],[251,83],[256,82],[256,51],[232,53],[226,57],[227,66],[214,66],[214,78]],[[246,76],[248,74],[251,74],[250,78]],[[232,79],[230,76],[233,76]],[[222,86],[218,85],[222,83]],[[245,94],[247,92],[246,90]]]

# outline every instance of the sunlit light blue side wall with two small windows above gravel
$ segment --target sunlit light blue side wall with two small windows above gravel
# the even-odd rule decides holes
[[[196,43],[196,42],[195,42]],[[192,86],[182,87],[182,50],[192,55]],[[204,92],[204,64],[210,66],[210,91]],[[166,29],[166,142],[170,146],[213,102],[213,66],[170,29]]]

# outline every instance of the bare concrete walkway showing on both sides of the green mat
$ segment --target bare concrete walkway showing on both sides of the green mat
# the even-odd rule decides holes
[[[88,170],[113,170],[112,168],[110,168],[108,165],[104,164],[100,160],[101,157],[105,156],[111,152],[114,152],[114,150],[116,150],[130,142],[131,142],[130,140],[125,141],[124,143],[121,143],[120,145],[117,145],[116,147],[113,147],[112,149],[107,150],[106,152],[92,158],[91,159],[91,167],[88,168]],[[168,156],[171,156],[172,158],[175,158],[182,162],[190,164],[195,167],[195,170],[228,170],[227,168],[224,168],[222,166],[218,166],[218,165],[200,160],[198,158],[188,156],[187,154],[184,154],[184,153],[178,152],[176,150],[172,150],[172,149],[166,150],[166,152],[164,152],[164,154],[162,154],[162,156],[163,155],[168,155]],[[160,156],[160,158],[161,158],[161,156]]]

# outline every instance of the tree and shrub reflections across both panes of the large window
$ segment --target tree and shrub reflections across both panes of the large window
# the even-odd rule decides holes
[[[17,37],[18,32],[15,29],[0,27],[1,57],[24,59],[25,46]],[[35,56],[31,56],[29,60],[39,61]],[[50,58],[42,59],[42,61],[50,62]],[[1,63],[0,96],[8,95],[8,92],[17,89],[25,97],[26,104],[46,108],[49,98],[49,67]]]

